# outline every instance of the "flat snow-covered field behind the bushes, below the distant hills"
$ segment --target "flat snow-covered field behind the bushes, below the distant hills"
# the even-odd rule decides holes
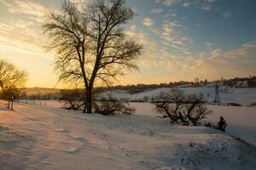
[[[25,101],[23,101],[25,102]],[[55,100],[28,100],[28,104],[34,107],[51,107],[60,108],[62,103]],[[157,112],[154,110],[154,105],[150,103],[131,102],[130,105],[136,108],[135,114],[154,116],[158,119]],[[224,116],[228,126],[226,127],[226,133],[233,135],[237,138],[241,138],[248,143],[256,145],[256,107],[248,106],[225,106],[225,105],[208,105],[209,109],[213,111],[212,115],[207,117],[204,122],[219,121],[219,116]]]

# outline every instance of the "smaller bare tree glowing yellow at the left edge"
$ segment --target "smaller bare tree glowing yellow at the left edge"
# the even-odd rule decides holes
[[[27,81],[26,71],[20,71],[9,61],[0,59],[0,88],[2,89],[2,98],[11,100],[16,97]]]

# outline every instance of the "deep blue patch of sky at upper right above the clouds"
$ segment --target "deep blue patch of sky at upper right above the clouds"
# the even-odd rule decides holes
[[[178,23],[178,30],[195,42],[195,52],[206,48],[206,42],[227,50],[256,39],[256,1],[253,0],[128,0],[128,4],[139,15],[137,23],[146,17],[158,28],[163,27],[165,20]]]

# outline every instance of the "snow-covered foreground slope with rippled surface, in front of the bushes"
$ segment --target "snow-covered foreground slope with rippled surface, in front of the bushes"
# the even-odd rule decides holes
[[[211,128],[150,115],[15,104],[15,111],[0,111],[0,169],[256,169],[256,149]]]

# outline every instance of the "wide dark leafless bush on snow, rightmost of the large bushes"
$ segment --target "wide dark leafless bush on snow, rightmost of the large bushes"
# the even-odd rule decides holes
[[[212,113],[207,109],[202,96],[184,95],[183,91],[178,89],[172,89],[171,94],[161,93],[153,103],[160,117],[171,119],[171,123],[197,125]]]

